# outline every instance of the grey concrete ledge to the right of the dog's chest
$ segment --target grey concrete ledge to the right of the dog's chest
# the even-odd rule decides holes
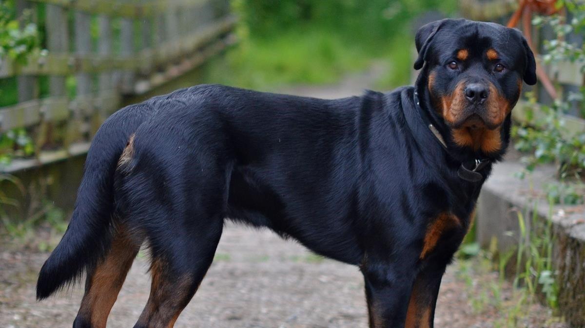
[[[553,266],[559,284],[559,309],[567,322],[575,327],[585,326],[585,206],[557,205],[550,207],[542,191],[546,183],[554,182],[553,166],[535,169],[531,177],[520,180],[514,176],[524,166],[514,160],[494,165],[494,172],[484,184],[477,204],[477,240],[487,247],[493,237],[498,250],[506,252],[521,238],[518,211],[525,215],[526,229],[539,233],[531,226],[534,211],[538,218],[552,221]],[[512,232],[512,233],[510,233]],[[528,240],[525,240],[528,242]]]

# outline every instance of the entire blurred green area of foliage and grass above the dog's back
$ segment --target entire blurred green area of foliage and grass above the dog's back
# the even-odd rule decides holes
[[[414,47],[410,21],[456,2],[425,0],[233,0],[239,45],[212,65],[214,82],[254,89],[337,82],[373,59],[388,61],[380,86],[408,83]]]

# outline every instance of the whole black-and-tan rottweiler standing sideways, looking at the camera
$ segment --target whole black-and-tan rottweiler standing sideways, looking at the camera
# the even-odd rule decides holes
[[[324,100],[199,85],[119,110],[95,135],[73,217],[37,298],[87,273],[74,327],[105,327],[140,246],[150,298],[135,327],[171,327],[225,219],[359,266],[370,327],[432,327],[445,267],[510,141],[521,32],[445,19],[416,34],[415,86]]]

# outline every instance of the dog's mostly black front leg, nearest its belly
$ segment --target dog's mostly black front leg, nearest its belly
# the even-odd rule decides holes
[[[370,328],[404,327],[415,278],[414,267],[405,263],[374,262],[362,267],[362,273]]]

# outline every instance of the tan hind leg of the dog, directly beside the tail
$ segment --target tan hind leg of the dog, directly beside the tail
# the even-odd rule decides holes
[[[124,226],[116,228],[111,249],[105,259],[87,275],[85,295],[75,317],[74,328],[106,326],[109,312],[140,249],[139,244],[130,239]]]

